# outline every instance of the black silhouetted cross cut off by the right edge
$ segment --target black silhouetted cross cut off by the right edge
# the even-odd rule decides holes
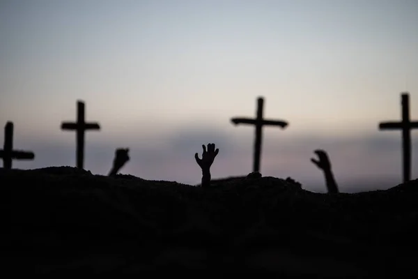
[[[409,115],[409,94],[404,92],[401,95],[402,121],[384,122],[379,124],[380,130],[402,130],[403,147],[403,182],[411,179],[411,129],[418,128],[418,121],[410,121]]]

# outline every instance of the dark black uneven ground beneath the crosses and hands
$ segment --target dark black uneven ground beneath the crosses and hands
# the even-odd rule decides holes
[[[273,177],[205,189],[48,167],[0,169],[0,189],[3,272],[396,278],[418,271],[418,180],[327,195]]]

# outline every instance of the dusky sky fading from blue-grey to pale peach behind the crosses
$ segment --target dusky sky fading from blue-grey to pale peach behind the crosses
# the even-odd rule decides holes
[[[35,160],[75,166],[76,102],[100,131],[86,133],[84,167],[195,185],[194,153],[215,143],[212,178],[252,170],[254,128],[232,117],[288,121],[263,128],[261,174],[325,192],[310,158],[330,156],[344,193],[402,182],[401,119],[410,92],[418,120],[415,0],[0,0],[0,125]],[[3,123],[3,124],[1,124]],[[3,138],[3,130],[0,130]],[[412,179],[418,176],[412,131]]]

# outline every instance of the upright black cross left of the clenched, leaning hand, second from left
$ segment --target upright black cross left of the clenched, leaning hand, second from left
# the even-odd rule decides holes
[[[75,130],[77,137],[77,167],[82,169],[84,162],[84,134],[86,130],[100,130],[98,123],[86,123],[84,103],[77,101],[77,122],[63,122],[61,124],[62,130]]]

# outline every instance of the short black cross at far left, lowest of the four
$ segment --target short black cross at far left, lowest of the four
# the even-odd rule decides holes
[[[13,122],[7,122],[4,127],[4,146],[0,150],[0,158],[3,158],[3,167],[5,169],[12,168],[12,160],[33,160],[35,154],[31,151],[13,150]]]

